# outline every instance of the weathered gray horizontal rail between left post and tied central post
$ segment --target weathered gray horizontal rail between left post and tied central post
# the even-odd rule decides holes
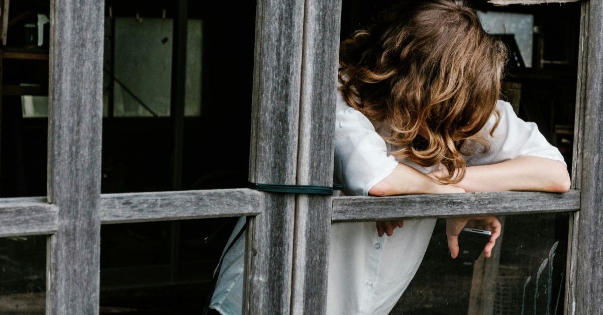
[[[103,194],[101,223],[184,220],[257,215],[263,194],[253,189]]]

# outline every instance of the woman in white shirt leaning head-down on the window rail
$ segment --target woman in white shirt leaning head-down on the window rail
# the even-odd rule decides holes
[[[343,193],[567,191],[557,148],[497,101],[505,56],[475,11],[449,0],[401,4],[344,41],[335,131]],[[333,224],[327,313],[387,314],[417,271],[434,224]],[[484,248],[490,256],[496,217],[447,220],[452,257],[467,224],[493,231]],[[213,294],[211,307],[223,314],[241,313],[242,239],[226,254]]]

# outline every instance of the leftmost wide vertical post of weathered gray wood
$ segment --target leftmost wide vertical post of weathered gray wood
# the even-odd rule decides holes
[[[98,314],[103,15],[103,0],[51,1],[46,314]]]

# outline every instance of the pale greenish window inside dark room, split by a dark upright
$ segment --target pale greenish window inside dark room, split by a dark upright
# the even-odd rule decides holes
[[[111,19],[106,19],[109,30]],[[172,19],[115,18],[113,115],[169,116],[172,77]],[[201,113],[202,24],[189,19],[186,43],[185,115]],[[108,38],[106,38],[108,39]],[[111,44],[105,43],[104,113],[108,114]]]

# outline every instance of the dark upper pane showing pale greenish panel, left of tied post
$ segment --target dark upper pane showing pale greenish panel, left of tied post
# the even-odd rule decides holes
[[[103,193],[245,185],[255,4],[189,1],[180,147],[169,118],[174,3],[106,1]]]

